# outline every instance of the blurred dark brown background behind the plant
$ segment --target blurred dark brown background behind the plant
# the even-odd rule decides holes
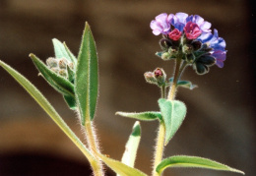
[[[183,79],[199,88],[179,89],[177,98],[187,104],[188,114],[164,156],[209,157],[252,176],[256,174],[255,7],[253,0],[1,0],[0,59],[31,80],[83,139],[76,114],[37,76],[29,54],[41,60],[53,56],[54,37],[78,53],[88,21],[99,56],[96,129],[102,152],[120,159],[134,120],[115,112],[158,110],[159,89],[146,84],[143,74],[162,67],[170,77],[173,69],[172,62],[155,56],[160,36],[152,33],[150,22],[162,12],[198,14],[224,37],[227,58],[223,69],[214,66],[207,75],[198,76],[192,68],[184,73]],[[79,149],[3,69],[0,93],[0,175],[90,175]],[[158,122],[141,125],[136,167],[150,174]],[[167,169],[164,175],[236,174]]]

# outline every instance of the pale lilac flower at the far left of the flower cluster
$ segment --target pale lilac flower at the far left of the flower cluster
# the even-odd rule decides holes
[[[170,22],[166,13],[160,14],[156,17],[156,20],[151,22],[151,29],[155,35],[168,34],[170,31]]]

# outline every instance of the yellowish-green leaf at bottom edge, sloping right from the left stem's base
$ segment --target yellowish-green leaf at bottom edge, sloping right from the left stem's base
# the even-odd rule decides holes
[[[147,176],[147,174],[143,173],[142,171],[132,168],[118,160],[111,159],[106,157],[100,153],[97,153],[97,156],[109,167],[111,168],[116,174],[120,176]]]

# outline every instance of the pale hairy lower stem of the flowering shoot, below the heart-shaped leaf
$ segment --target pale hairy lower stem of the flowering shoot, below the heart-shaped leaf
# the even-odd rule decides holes
[[[163,122],[160,122],[160,129],[159,129],[159,135],[157,139],[157,147],[155,152],[155,161],[154,161],[154,167],[153,167],[153,176],[160,176],[160,174],[156,171],[157,166],[160,164],[162,154],[163,154],[163,148],[164,148],[164,134],[165,134],[165,127]]]

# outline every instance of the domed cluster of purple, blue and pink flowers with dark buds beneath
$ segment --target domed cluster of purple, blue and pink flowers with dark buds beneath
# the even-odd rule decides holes
[[[209,72],[209,67],[224,67],[226,55],[224,38],[218,30],[212,33],[211,24],[198,15],[185,13],[160,14],[151,22],[155,35],[162,34],[157,52],[163,60],[181,58],[192,65],[200,75]]]

